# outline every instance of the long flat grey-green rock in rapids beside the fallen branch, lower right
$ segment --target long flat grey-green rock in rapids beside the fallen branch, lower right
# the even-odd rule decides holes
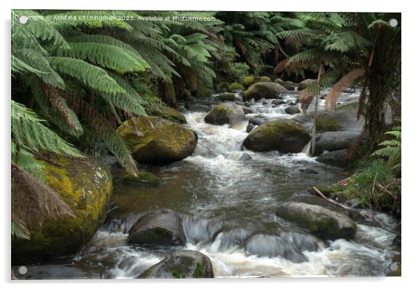
[[[353,220],[321,206],[285,201],[278,207],[276,215],[299,224],[324,240],[353,239],[356,236],[357,226]]]

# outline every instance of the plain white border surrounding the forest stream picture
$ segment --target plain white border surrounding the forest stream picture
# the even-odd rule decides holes
[[[410,287],[414,276],[417,275],[417,108],[418,108],[418,79],[417,79],[417,10],[413,8],[413,1],[251,1],[244,0],[209,0],[209,1],[181,1],[181,0],[38,0],[1,3],[1,281],[6,282],[7,288],[24,286],[28,282],[10,283],[10,10],[13,9],[109,9],[109,10],[267,10],[267,11],[383,11],[402,13],[402,90],[403,90],[403,210],[402,210],[402,277],[401,278],[331,278],[331,279],[215,279],[210,281],[61,281],[60,288],[87,288],[100,286],[101,288],[115,288],[123,284],[124,288],[214,288],[217,286],[240,286],[240,288],[262,287],[303,287],[303,288],[401,288]],[[30,284],[30,285],[29,285]],[[31,288],[56,288],[56,282],[35,281],[28,285]]]

